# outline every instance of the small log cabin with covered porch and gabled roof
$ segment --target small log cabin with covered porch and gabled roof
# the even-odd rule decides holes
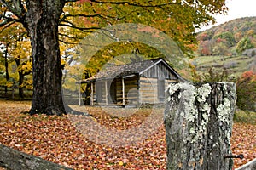
[[[186,80],[158,58],[111,66],[79,83],[90,86],[90,105],[139,106],[164,103],[166,86],[172,82]]]

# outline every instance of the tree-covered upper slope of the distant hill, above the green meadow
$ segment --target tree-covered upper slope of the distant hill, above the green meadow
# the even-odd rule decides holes
[[[256,55],[256,17],[230,20],[198,33],[198,56]]]

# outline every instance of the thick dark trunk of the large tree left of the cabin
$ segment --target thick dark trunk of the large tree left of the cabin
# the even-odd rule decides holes
[[[32,43],[31,114],[65,114],[61,98],[61,56],[58,24],[65,2],[26,1],[26,24]]]

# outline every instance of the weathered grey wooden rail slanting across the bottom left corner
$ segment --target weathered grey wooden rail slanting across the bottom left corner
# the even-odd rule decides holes
[[[42,158],[22,153],[3,144],[0,144],[0,167],[6,167],[12,170],[71,170],[71,168],[63,167],[53,162],[45,161]]]

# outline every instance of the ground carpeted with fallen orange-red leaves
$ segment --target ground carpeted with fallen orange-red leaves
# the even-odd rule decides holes
[[[90,119],[20,114],[29,108],[28,102],[0,100],[1,144],[74,169],[166,169],[166,134],[157,111],[131,109],[132,114],[120,110],[113,115],[89,107]],[[245,156],[235,160],[235,167],[256,157],[255,127],[234,123],[232,150]],[[96,138],[99,132],[108,135]]]

